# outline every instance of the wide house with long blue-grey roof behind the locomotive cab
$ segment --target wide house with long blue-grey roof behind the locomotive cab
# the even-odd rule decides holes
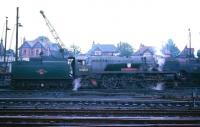
[[[114,56],[117,48],[112,44],[95,44],[93,42],[92,48],[88,51],[91,56]]]

